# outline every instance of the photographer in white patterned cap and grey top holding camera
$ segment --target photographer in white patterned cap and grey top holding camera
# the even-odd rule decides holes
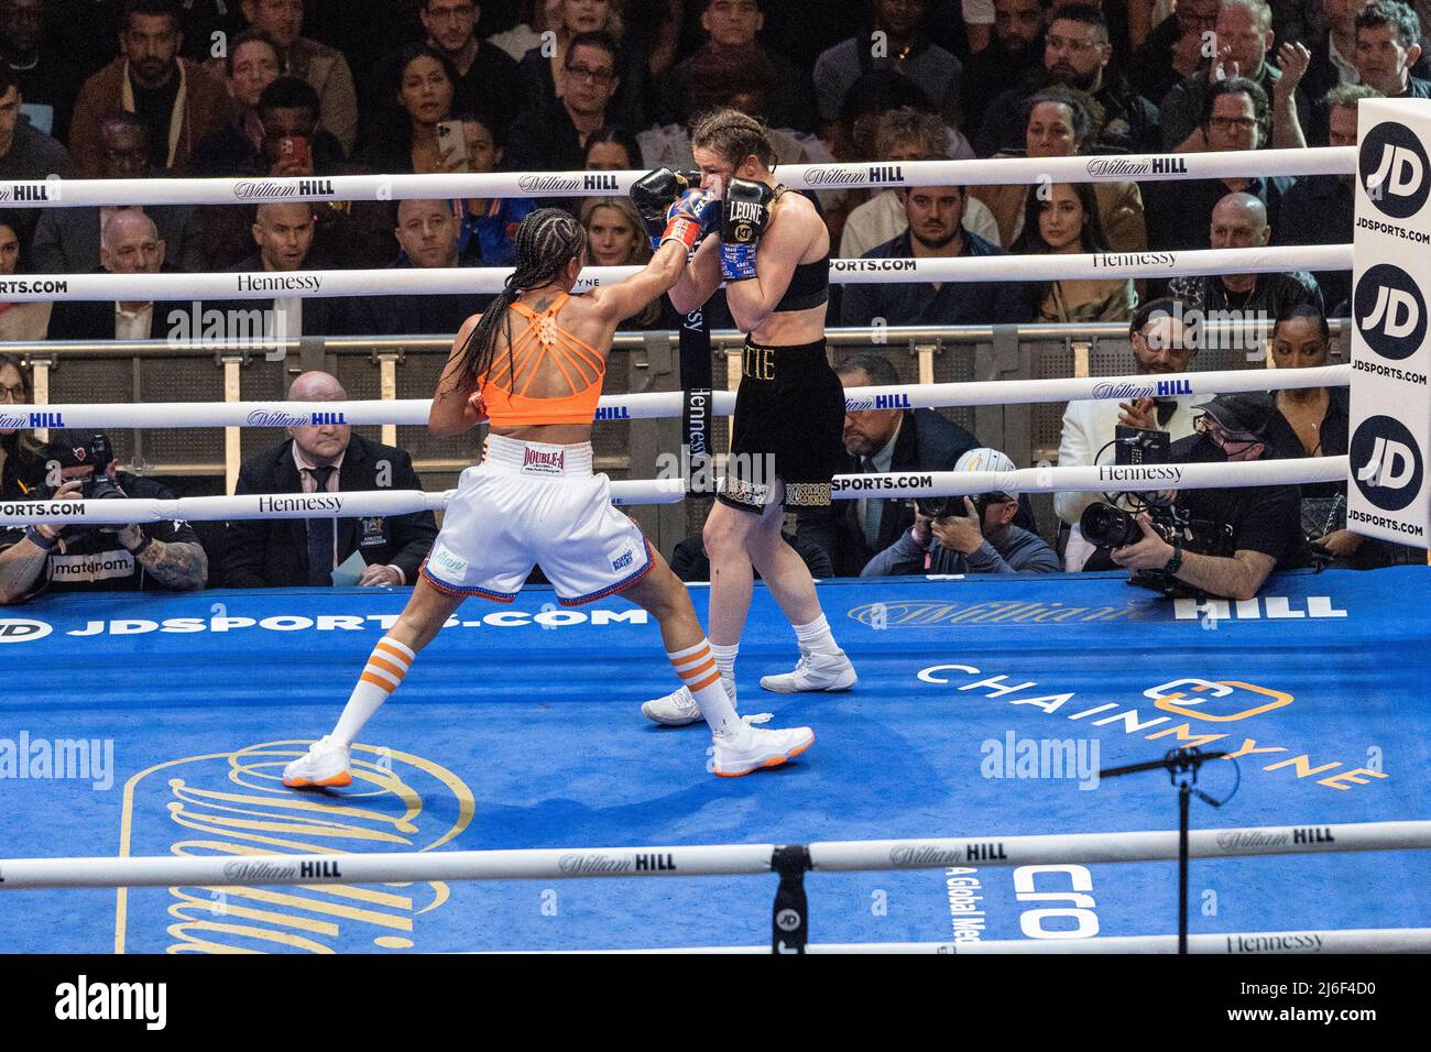
[[[1013,471],[997,449],[970,449],[954,471]],[[881,551],[860,577],[902,574],[1056,574],[1058,552],[1037,534],[1013,525],[1019,494],[979,497],[922,497],[914,525]]]

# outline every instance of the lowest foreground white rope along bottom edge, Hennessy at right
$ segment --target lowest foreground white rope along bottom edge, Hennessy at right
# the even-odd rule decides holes
[[[551,950],[570,953],[571,950]],[[763,953],[770,946],[688,946],[680,949],[577,950],[578,953]],[[1176,935],[1095,936],[1092,939],[989,939],[979,942],[809,943],[806,953],[1176,953]],[[1428,953],[1427,927],[1347,927],[1328,932],[1229,932],[1189,935],[1188,953]]]

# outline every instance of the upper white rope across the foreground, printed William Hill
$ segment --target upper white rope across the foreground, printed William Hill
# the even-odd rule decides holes
[[[814,872],[1172,862],[1178,830],[929,840],[831,840],[807,846]],[[1431,822],[1195,829],[1192,859],[1431,849]],[[498,852],[0,859],[0,890],[561,880],[612,876],[736,876],[773,872],[774,844],[542,847]]]

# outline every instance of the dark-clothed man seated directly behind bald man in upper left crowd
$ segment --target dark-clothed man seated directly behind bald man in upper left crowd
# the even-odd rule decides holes
[[[100,125],[102,179],[157,179],[165,172],[149,167],[149,129],[133,113],[113,113]],[[130,205],[139,212],[139,205]],[[122,209],[47,208],[40,215],[31,248],[36,273],[93,273],[100,266],[99,239],[106,220]],[[193,205],[145,205],[165,242],[173,271],[199,273],[203,265],[203,232]]]

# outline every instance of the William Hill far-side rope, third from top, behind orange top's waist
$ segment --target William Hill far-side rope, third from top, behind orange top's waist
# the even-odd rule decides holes
[[[1248,391],[1347,386],[1349,365],[1315,369],[1222,369],[1146,376],[1083,376],[1068,379],[1000,379],[964,384],[893,384],[847,388],[846,409],[939,409],[962,405],[1025,402],[1126,401],[1183,398]],[[713,415],[736,411],[734,391],[713,392]],[[661,391],[602,395],[597,421],[680,417],[684,394]],[[431,399],[399,398],[349,402],[147,402],[0,406],[0,428],[295,428],[322,424],[425,425]]]

